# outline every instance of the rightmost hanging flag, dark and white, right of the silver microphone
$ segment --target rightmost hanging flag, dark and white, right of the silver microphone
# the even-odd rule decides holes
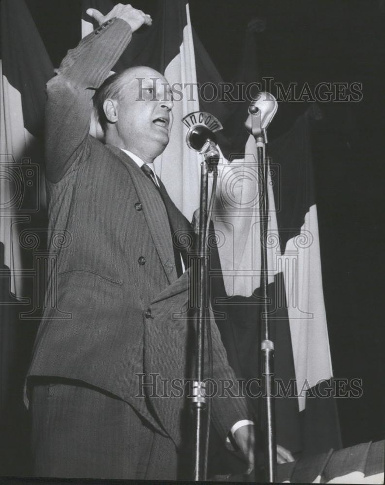
[[[341,437],[322,290],[310,120],[311,109],[271,143],[269,155],[280,167],[274,181],[279,204],[277,272],[285,283],[297,390],[303,391],[299,395],[303,440],[306,454],[315,454],[340,448]]]

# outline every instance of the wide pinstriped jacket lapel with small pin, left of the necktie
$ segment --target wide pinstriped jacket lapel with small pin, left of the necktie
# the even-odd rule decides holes
[[[172,283],[177,279],[177,273],[170,225],[162,198],[151,180],[145,176],[138,165],[126,153],[116,146],[106,145],[106,147],[124,163],[132,178],[159,259],[162,262],[168,282]]]

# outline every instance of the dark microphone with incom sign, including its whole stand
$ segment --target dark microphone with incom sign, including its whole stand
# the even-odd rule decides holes
[[[215,118],[208,113],[191,113],[187,117],[193,119],[210,119],[210,123]],[[201,115],[201,116],[198,116]],[[206,115],[206,117],[202,116]],[[184,121],[183,120],[183,121]],[[217,129],[222,126],[218,122]],[[220,128],[218,128],[220,127]],[[208,235],[208,175],[214,172],[217,175],[217,165],[219,161],[219,152],[216,147],[216,138],[212,130],[204,125],[191,126],[187,132],[187,145],[199,151],[204,156],[204,162],[201,162],[201,193],[200,193],[200,212],[199,212],[199,233],[198,233],[198,252],[194,258],[194,265],[190,275],[190,287],[193,295],[192,308],[193,318],[196,323],[195,338],[195,372],[196,379],[193,380],[193,396],[191,407],[194,421],[194,471],[193,480],[207,480],[207,453],[208,453],[208,433],[210,419],[210,403],[205,393],[204,385],[204,340],[207,329],[208,337],[208,361],[211,366],[210,342],[210,315],[209,315],[209,250],[207,245]],[[211,197],[214,197],[214,188]],[[211,206],[211,204],[210,204]],[[207,327],[206,327],[207,324]],[[210,376],[211,377],[211,376]]]

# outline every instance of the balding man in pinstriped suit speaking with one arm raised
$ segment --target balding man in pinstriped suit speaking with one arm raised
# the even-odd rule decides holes
[[[154,379],[188,377],[189,368],[189,274],[171,234],[189,224],[152,165],[168,143],[172,93],[147,67],[108,78],[132,33],[151,24],[148,15],[121,4],[89,14],[100,27],[47,84],[49,242],[57,256],[27,379],[34,474],[176,479],[185,394],[154,392]],[[93,98],[105,144],[89,134]],[[235,380],[214,323],[212,340],[214,379]],[[245,399],[212,403],[219,435],[233,438],[252,467]],[[280,459],[291,459],[285,453]]]

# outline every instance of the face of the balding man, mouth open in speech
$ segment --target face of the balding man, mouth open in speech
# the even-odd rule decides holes
[[[116,124],[119,138],[138,156],[155,158],[169,141],[171,88],[164,76],[149,67],[130,68],[121,81]]]

